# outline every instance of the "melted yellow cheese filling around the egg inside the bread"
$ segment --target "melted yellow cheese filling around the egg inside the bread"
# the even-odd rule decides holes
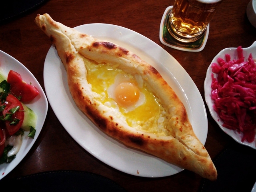
[[[98,64],[86,58],[84,58],[84,62],[87,69],[87,81],[92,85],[92,91],[99,95],[98,100],[102,104],[121,112],[122,117],[125,118],[127,124],[131,127],[140,128],[155,134],[170,135],[170,131],[166,129],[168,122],[167,118],[165,118],[166,111],[158,102],[158,98],[147,90],[142,78],[136,78],[131,74],[127,74],[119,69],[118,66]],[[129,110],[127,110],[127,106],[118,105],[108,94],[110,86],[115,84],[115,77],[122,75],[126,77],[124,81],[135,85],[140,94],[145,97],[142,104]],[[133,93],[131,97],[134,97]]]

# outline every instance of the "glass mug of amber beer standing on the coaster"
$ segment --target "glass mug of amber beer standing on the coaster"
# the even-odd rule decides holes
[[[198,40],[207,28],[222,0],[176,0],[167,29],[182,42]]]

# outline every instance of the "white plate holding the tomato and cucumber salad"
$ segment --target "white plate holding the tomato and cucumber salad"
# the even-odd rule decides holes
[[[22,137],[22,146],[20,148],[20,151],[16,154],[16,158],[12,160],[9,164],[0,164],[0,180],[4,178],[10,171],[12,171],[19,163],[20,161],[26,156],[26,154],[29,152],[29,150],[32,148],[34,142],[36,142],[36,139],[38,138],[38,135],[40,134],[42,127],[44,125],[44,120],[46,118],[47,110],[48,110],[48,102],[46,99],[46,95],[44,94],[44,91],[34,75],[18,60],[13,58],[12,56],[6,54],[5,52],[2,52],[0,50],[0,70],[2,73],[7,77],[10,70],[14,70],[15,72],[19,73],[22,77],[22,79],[25,82],[31,82],[33,86],[35,86],[38,91],[39,95],[34,98],[29,103],[25,103],[26,106],[31,108],[35,114],[37,115],[37,123],[36,123],[36,134],[34,136],[34,139],[28,137],[29,132],[24,132],[24,135]]]

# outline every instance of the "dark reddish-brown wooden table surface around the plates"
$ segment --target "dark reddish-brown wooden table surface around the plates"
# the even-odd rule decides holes
[[[208,41],[201,52],[184,52],[160,42],[162,15],[174,0],[47,0],[0,24],[0,50],[24,64],[44,89],[44,60],[51,42],[34,23],[37,14],[48,13],[54,20],[69,27],[88,23],[123,26],[146,36],[170,53],[191,76],[204,99],[206,70],[216,54],[228,47],[249,47],[256,40],[256,28],[246,16],[249,1],[222,2],[210,22]],[[206,111],[208,135],[205,147],[215,159],[234,140],[218,127],[208,108]],[[58,170],[99,174],[127,191],[198,191],[203,180],[187,170],[163,178],[143,178],[118,171],[84,150],[66,132],[49,105],[44,126],[34,146],[5,178]]]

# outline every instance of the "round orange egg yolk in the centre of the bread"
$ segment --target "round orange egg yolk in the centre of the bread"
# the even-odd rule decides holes
[[[136,85],[130,82],[122,82],[116,86],[114,96],[118,105],[128,107],[139,100],[140,90]]]

